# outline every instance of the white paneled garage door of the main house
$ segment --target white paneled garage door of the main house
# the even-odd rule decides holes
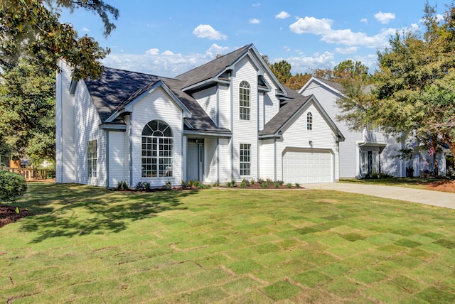
[[[333,157],[330,151],[287,149],[284,153],[284,183],[331,183],[332,175]]]

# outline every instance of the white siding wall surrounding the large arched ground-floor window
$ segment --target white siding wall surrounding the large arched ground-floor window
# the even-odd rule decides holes
[[[158,87],[134,104],[132,116],[132,181],[134,187],[139,181],[148,181],[151,187],[162,187],[167,180],[172,185],[181,185],[182,180],[182,121],[183,114],[180,107],[171,97]],[[142,130],[149,121],[159,119],[164,121],[173,131],[173,176],[146,178],[142,177]]]

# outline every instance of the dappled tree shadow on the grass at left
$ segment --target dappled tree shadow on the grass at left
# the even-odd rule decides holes
[[[37,243],[53,237],[122,232],[129,223],[167,210],[185,210],[181,198],[193,191],[117,192],[87,185],[31,183],[18,201],[33,213],[21,227]]]

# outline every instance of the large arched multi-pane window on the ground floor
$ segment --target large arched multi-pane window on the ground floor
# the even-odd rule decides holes
[[[142,177],[172,176],[173,133],[161,120],[152,120],[142,130]]]

